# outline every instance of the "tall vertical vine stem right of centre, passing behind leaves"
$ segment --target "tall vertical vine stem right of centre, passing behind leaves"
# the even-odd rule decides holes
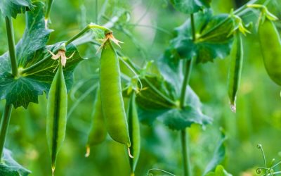
[[[194,15],[193,13],[190,14],[190,25],[192,27],[192,40],[195,41],[195,23],[194,23]],[[185,75],[183,78],[183,86],[181,87],[181,99],[180,99],[180,108],[183,109],[185,106],[185,94],[186,94],[186,87],[188,86],[191,70],[192,70],[192,58],[190,58],[185,65]],[[182,148],[182,155],[183,155],[183,175],[190,176],[192,175],[190,169],[190,161],[188,155],[188,144],[186,140],[186,129],[181,130],[181,148]]]

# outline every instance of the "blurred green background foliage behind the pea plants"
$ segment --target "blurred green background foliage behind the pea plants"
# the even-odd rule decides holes
[[[281,18],[278,1],[273,0],[268,8]],[[213,0],[211,8],[215,14],[229,13],[231,8],[246,2]],[[188,18],[188,15],[175,11],[167,0],[98,0],[98,16],[95,0],[60,0],[54,2],[51,11],[50,28],[54,32],[48,43],[70,39],[86,24],[95,23],[96,18],[98,24],[103,25],[124,11],[128,11],[131,18],[122,15],[120,24],[113,30],[115,37],[124,42],[122,52],[139,65],[159,58],[169,46],[174,27]],[[251,20],[252,17],[245,18]],[[18,15],[13,24],[15,41],[18,42],[25,29],[25,16]],[[279,20],[275,24],[281,27]],[[255,32],[244,37],[244,42],[237,113],[230,111],[228,104],[229,58],[195,65],[192,71],[190,85],[204,103],[204,113],[214,118],[213,124],[205,130],[197,125],[189,129],[190,161],[195,175],[202,173],[213,155],[220,138],[220,127],[226,130],[228,136],[223,165],[233,175],[256,175],[256,167],[263,165],[256,144],[263,145],[268,161],[272,158],[281,160],[281,89],[266,74]],[[4,54],[8,50],[4,18],[0,18],[0,44],[0,54]],[[84,157],[99,63],[93,44],[83,44],[79,46],[79,51],[88,60],[80,63],[74,72],[74,87],[69,94],[67,134],[55,175],[129,175],[126,149],[110,137],[103,144],[93,147],[89,158]],[[3,107],[4,101],[1,101],[0,109]],[[141,125],[142,148],[136,176],[146,175],[150,168],[182,175],[179,134],[161,122],[155,122],[152,127]],[[39,97],[39,104],[31,103],[28,110],[13,109],[6,148],[13,151],[19,163],[32,170],[32,175],[51,175],[51,159],[46,143],[45,95]]]

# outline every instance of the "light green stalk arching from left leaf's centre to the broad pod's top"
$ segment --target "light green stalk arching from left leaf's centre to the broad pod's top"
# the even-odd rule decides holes
[[[108,29],[107,27],[103,27],[100,25],[96,25],[96,24],[89,24],[87,25],[83,30],[81,30],[78,34],[76,34],[74,37],[72,37],[71,39],[67,40],[67,42],[65,42],[65,46],[67,46],[68,44],[70,44],[71,42],[73,42],[75,39],[78,39],[79,37],[81,37],[81,35],[83,35],[85,32],[87,32],[90,29],[100,29],[103,30],[105,32],[105,34],[112,32],[112,30]],[[58,49],[56,49],[55,51],[53,51],[53,53],[58,52]],[[29,72],[30,70],[37,68],[39,65],[41,65],[42,63],[44,63],[45,61],[48,61],[48,59],[51,58],[51,54],[48,54],[46,57],[44,57],[43,59],[41,59],[41,61],[35,63],[34,65],[31,65],[29,68],[25,68],[23,70],[21,70],[20,74],[25,74],[27,72]]]

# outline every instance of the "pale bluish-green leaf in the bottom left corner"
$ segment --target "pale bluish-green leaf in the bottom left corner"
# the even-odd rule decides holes
[[[4,149],[4,155],[0,163],[0,175],[5,176],[27,176],[31,173],[30,170],[23,168],[12,158],[12,152]]]

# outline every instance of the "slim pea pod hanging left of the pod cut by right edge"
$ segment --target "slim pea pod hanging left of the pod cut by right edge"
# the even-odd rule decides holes
[[[243,63],[243,43],[239,32],[237,32],[234,39],[230,59],[230,69],[228,73],[228,96],[230,99],[230,108],[233,112],[236,112],[236,97],[239,89]]]

